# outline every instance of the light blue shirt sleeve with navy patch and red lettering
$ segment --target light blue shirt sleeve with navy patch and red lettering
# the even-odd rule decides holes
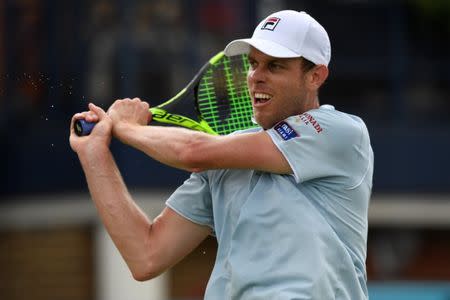
[[[361,181],[368,165],[367,145],[362,145],[364,123],[359,121],[334,110],[314,109],[267,132],[297,183],[329,178],[350,188]]]

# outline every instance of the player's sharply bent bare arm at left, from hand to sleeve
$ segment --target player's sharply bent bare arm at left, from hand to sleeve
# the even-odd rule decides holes
[[[78,154],[98,214],[133,277],[151,279],[190,253],[211,229],[170,208],[152,222],[133,201],[109,150],[111,120],[100,108],[90,105],[90,109],[73,117],[71,147]],[[99,121],[91,135],[74,133],[78,118]]]

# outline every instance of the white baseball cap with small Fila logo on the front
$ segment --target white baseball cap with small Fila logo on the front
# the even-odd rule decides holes
[[[304,57],[316,65],[328,66],[331,58],[327,32],[304,11],[271,14],[259,23],[250,39],[234,40],[224,52],[227,56],[249,53],[250,46],[273,57]]]

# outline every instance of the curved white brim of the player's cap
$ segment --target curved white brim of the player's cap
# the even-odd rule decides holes
[[[255,38],[234,40],[225,47],[224,53],[226,56],[248,54],[250,52],[250,46],[273,57],[288,58],[301,56],[299,53],[272,41]]]

